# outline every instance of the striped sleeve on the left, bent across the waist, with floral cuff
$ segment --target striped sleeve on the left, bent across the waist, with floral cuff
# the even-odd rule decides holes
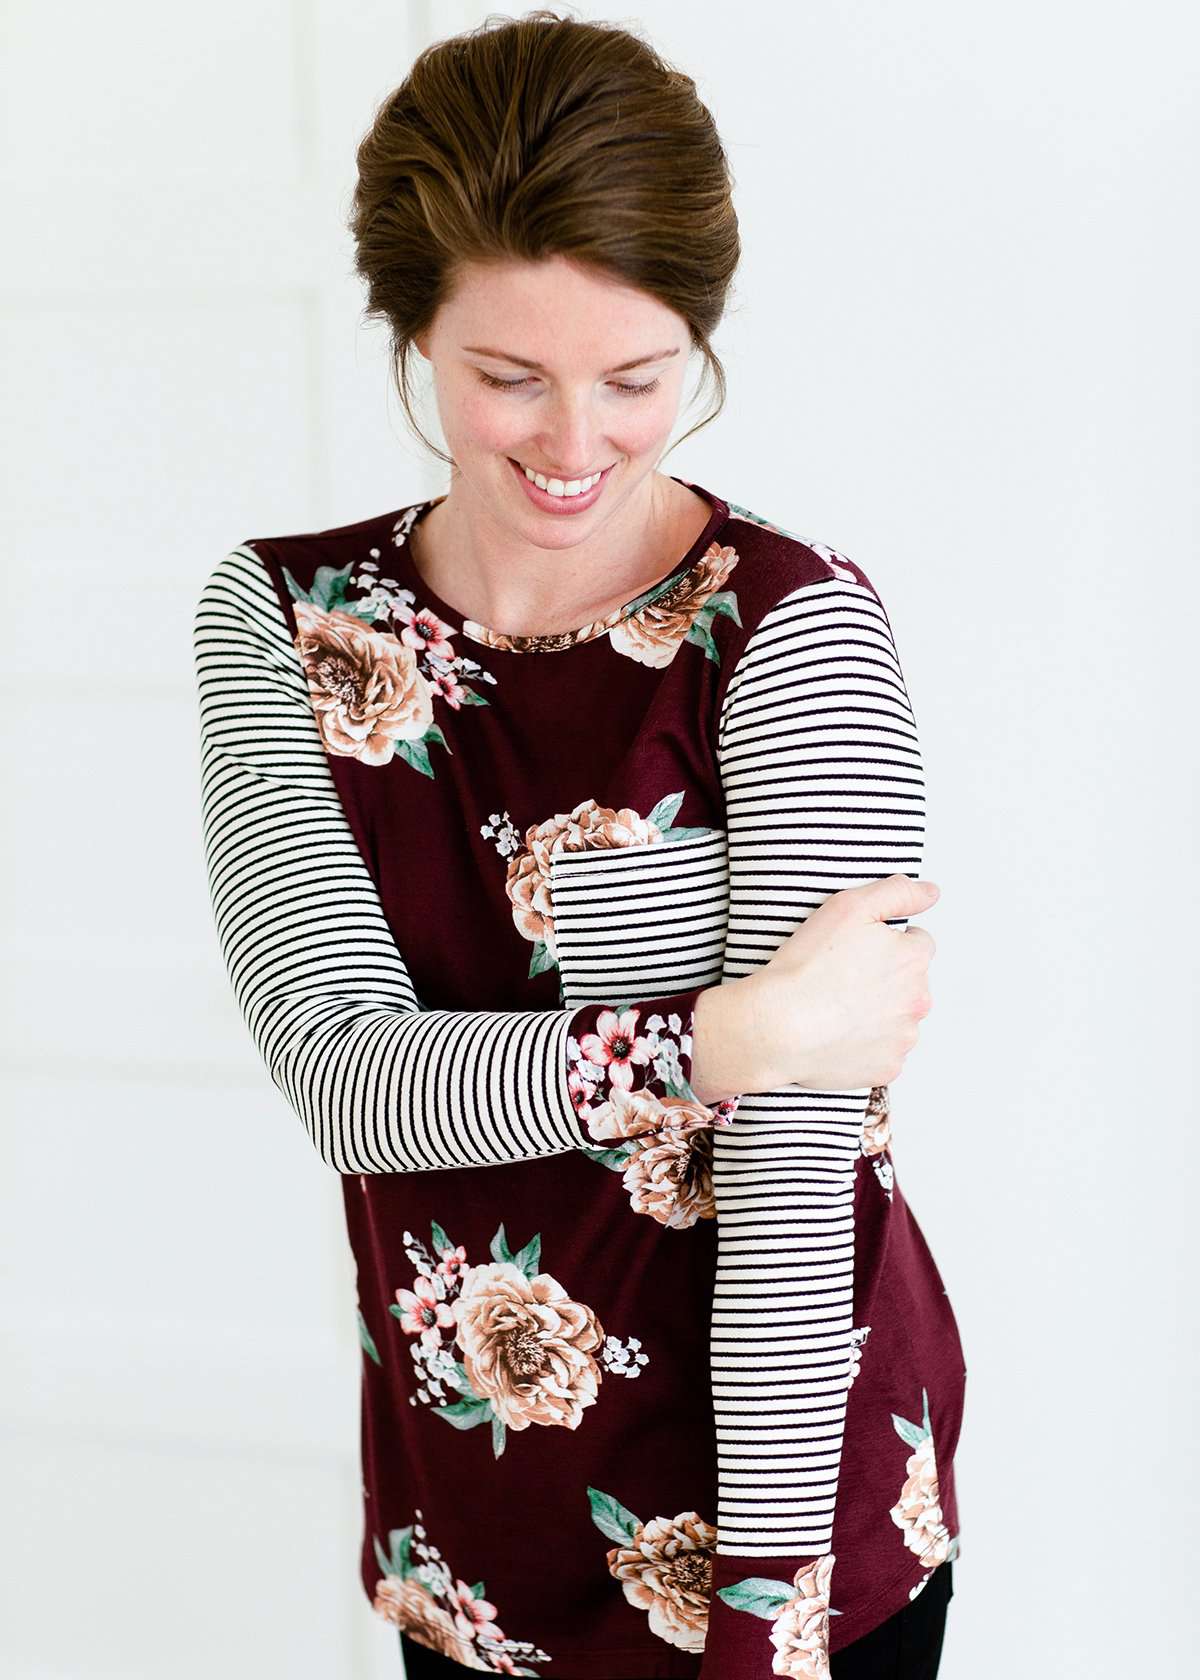
[[[249,544],[208,578],[193,654],[222,956],[271,1079],[326,1166],[412,1173],[595,1147],[576,1067],[580,1045],[603,1048],[610,1035],[603,1005],[420,1006],[341,806],[274,583]],[[691,1087],[699,990],[639,1005],[642,1018],[677,1016],[682,1030],[674,1058],[642,1072],[654,1095]]]

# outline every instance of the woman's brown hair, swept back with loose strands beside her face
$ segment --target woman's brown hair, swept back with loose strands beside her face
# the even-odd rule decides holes
[[[408,356],[461,265],[566,255],[674,309],[704,356],[741,254],[733,175],[696,84],[617,24],[538,8],[434,42],[358,146],[350,232],[366,316],[387,321],[415,435]],[[677,440],[679,444],[684,438]],[[676,445],[672,445],[676,447]]]

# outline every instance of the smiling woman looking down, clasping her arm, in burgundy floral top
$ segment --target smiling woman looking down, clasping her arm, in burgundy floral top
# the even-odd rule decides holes
[[[363,1586],[412,1677],[931,1677],[921,759],[866,573],[659,470],[692,351],[724,388],[711,116],[624,29],[491,20],[351,227],[449,489],[239,544],[195,650],[222,949],[358,1267]]]

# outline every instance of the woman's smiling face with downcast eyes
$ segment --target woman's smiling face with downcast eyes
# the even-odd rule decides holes
[[[548,257],[467,267],[417,348],[434,365],[454,496],[555,546],[647,494],[679,415],[691,336],[645,292]],[[529,486],[521,467],[563,484],[603,477],[561,497]]]

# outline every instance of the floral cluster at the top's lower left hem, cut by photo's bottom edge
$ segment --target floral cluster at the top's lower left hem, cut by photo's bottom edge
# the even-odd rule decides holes
[[[496,1621],[496,1604],[484,1594],[484,1583],[467,1586],[427,1544],[417,1522],[388,1534],[390,1551],[375,1536],[375,1557],[383,1578],[375,1586],[375,1611],[417,1645],[425,1645],[464,1668],[492,1675],[536,1675],[529,1663],[551,1656],[528,1640],[509,1640]],[[413,1561],[413,1554],[420,1562]]]

